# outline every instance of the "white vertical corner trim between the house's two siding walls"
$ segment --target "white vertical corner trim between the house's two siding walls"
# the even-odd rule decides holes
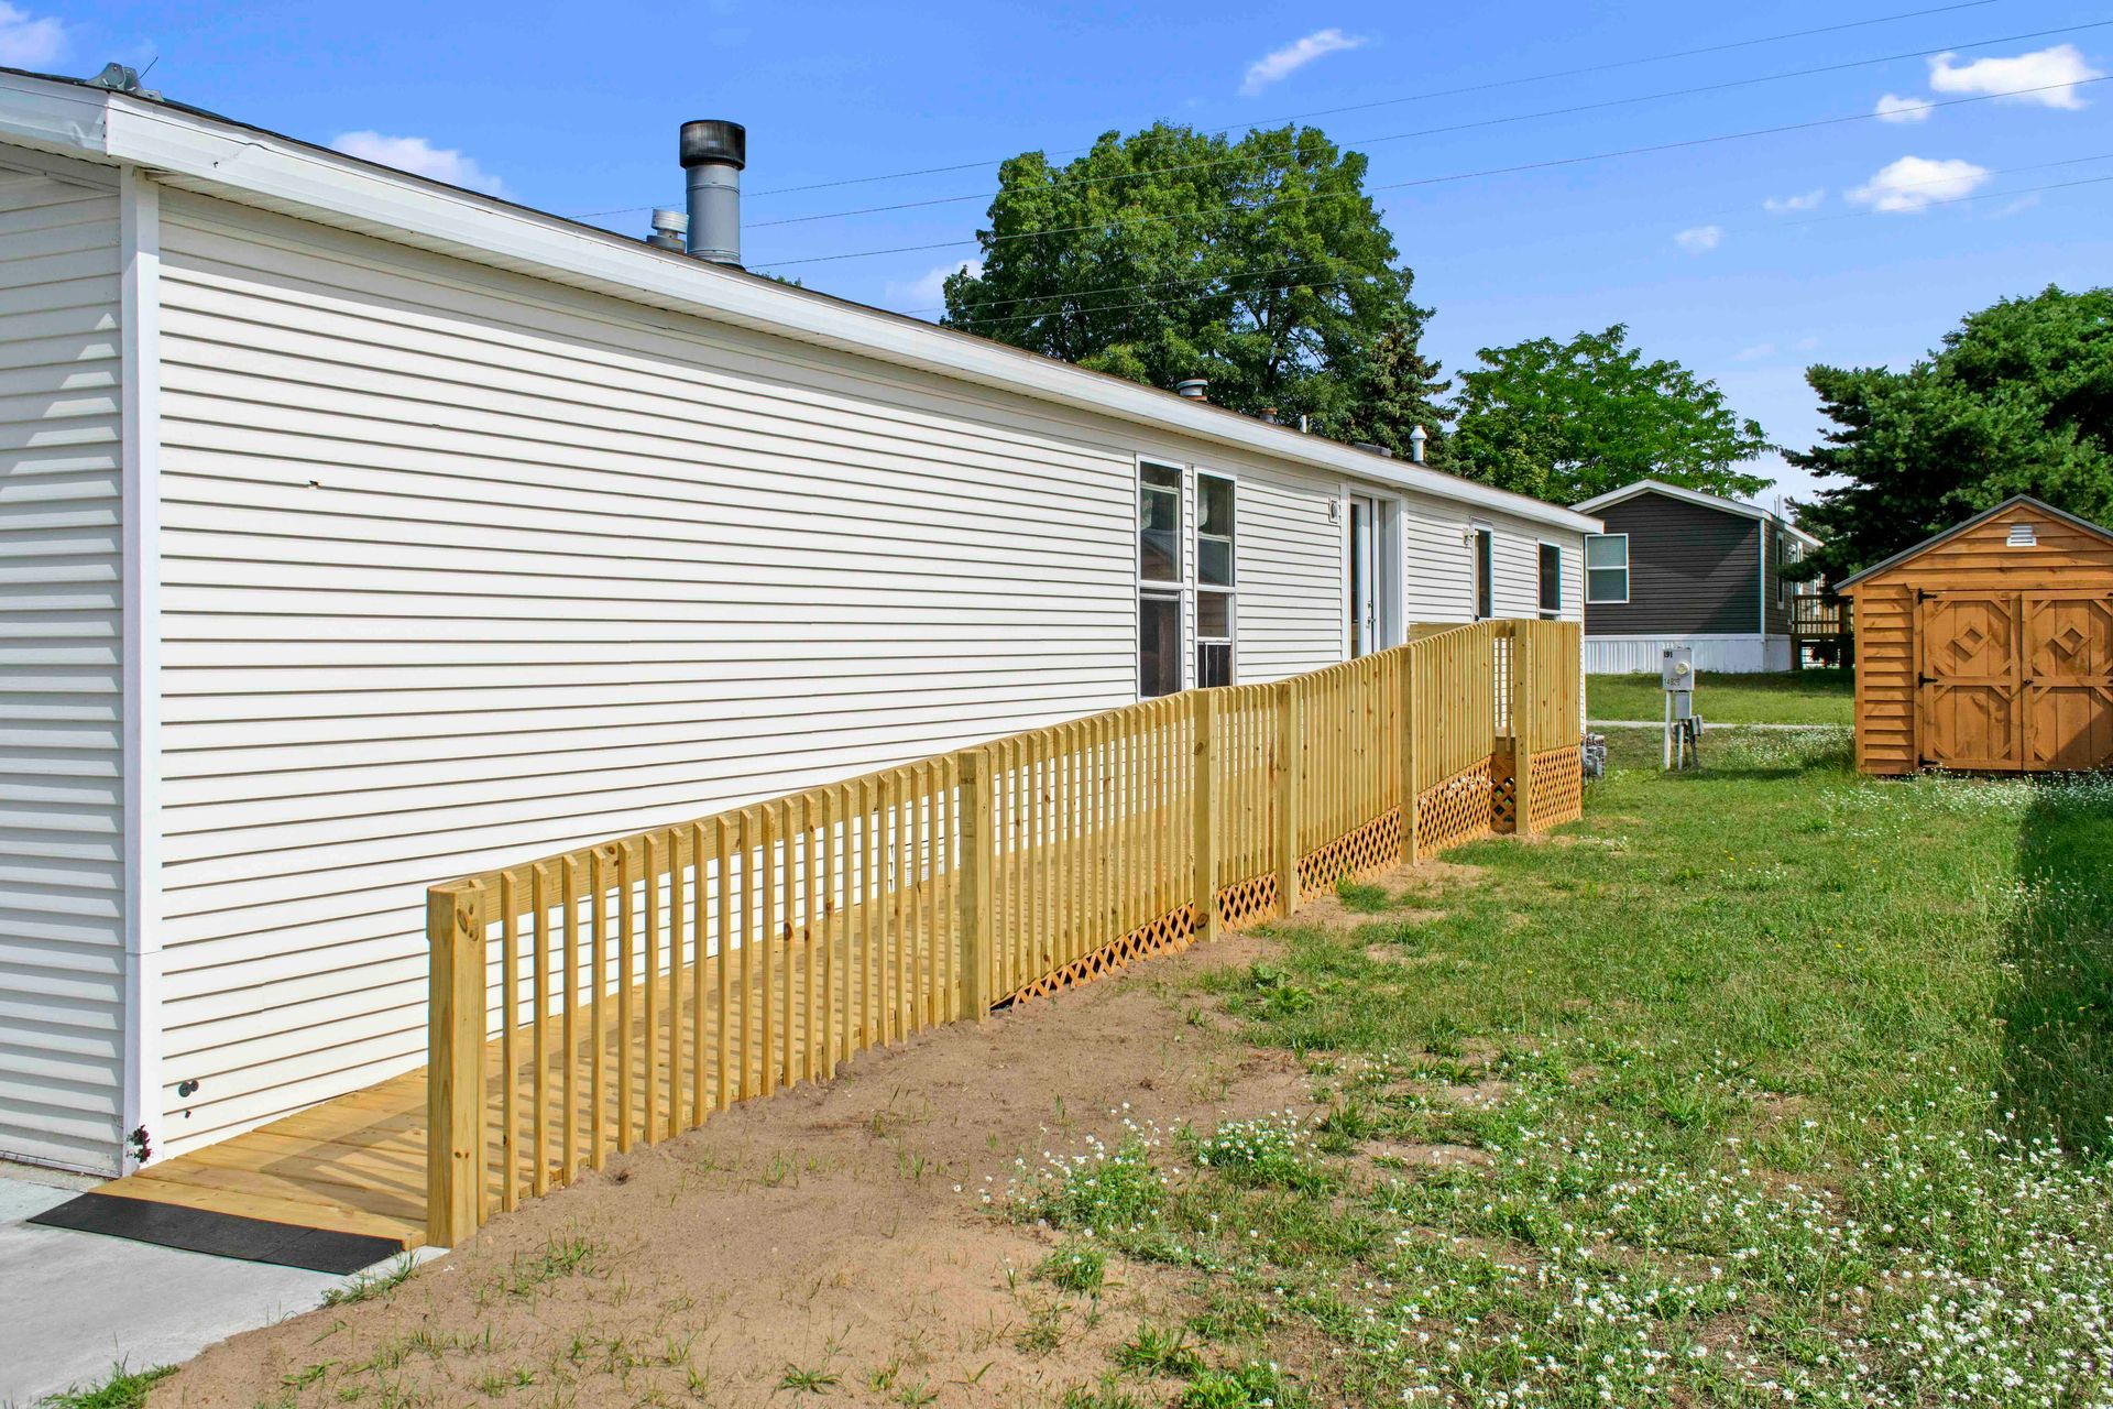
[[[161,1149],[161,188],[118,175],[125,1073],[118,1168]]]

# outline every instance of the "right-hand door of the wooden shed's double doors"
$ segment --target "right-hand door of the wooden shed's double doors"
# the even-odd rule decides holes
[[[2026,591],[2026,767],[2113,765],[2113,598]]]

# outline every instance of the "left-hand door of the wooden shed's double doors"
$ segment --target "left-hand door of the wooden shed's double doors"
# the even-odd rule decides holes
[[[1925,765],[2024,767],[2016,591],[1931,591],[1916,610]]]

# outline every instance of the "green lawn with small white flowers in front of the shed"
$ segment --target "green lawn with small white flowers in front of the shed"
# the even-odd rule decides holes
[[[1327,1115],[1023,1172],[1194,1293],[1071,1409],[2113,1403],[2113,786],[1707,758],[1198,980]]]

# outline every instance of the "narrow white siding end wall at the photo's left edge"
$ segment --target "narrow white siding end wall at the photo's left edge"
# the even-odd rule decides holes
[[[0,167],[0,1153],[114,1175],[118,196],[114,175],[53,171]]]

